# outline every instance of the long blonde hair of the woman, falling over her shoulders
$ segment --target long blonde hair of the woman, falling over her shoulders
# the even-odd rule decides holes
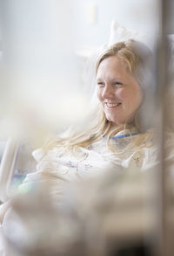
[[[145,49],[144,51],[141,50]],[[134,40],[129,40],[125,42],[119,42],[115,45],[111,45],[108,47],[104,52],[102,52],[98,59],[96,65],[96,73],[98,66],[100,63],[109,57],[117,56],[121,61],[124,61],[129,71],[132,75],[135,76],[137,79],[140,87],[143,86],[143,74],[142,70],[146,68],[144,66],[145,60],[147,59],[147,52],[148,55],[150,54],[150,50],[143,44]],[[144,88],[143,88],[144,91]],[[113,147],[110,142],[110,138],[113,135],[116,135],[118,131],[125,130],[128,128],[130,131],[130,135],[132,135],[132,128],[137,128],[138,132],[141,133],[141,126],[140,121],[138,119],[138,113],[136,114],[134,121],[129,124],[120,125],[117,128],[111,128],[111,122],[108,121],[105,117],[104,110],[99,104],[97,108],[97,118],[93,121],[90,121],[90,127],[85,129],[84,132],[80,133],[71,133],[71,135],[62,138],[60,136],[57,139],[50,140],[43,145],[43,149],[51,149],[53,147],[63,147],[64,149],[71,149],[73,152],[76,151],[78,147],[88,148],[91,143],[99,141],[104,135],[107,135],[107,146],[112,152],[116,152],[116,146]],[[140,134],[137,139],[131,136],[131,143],[128,145],[128,148],[133,146],[141,147],[143,142],[146,141],[148,137],[151,136],[151,133]]]

